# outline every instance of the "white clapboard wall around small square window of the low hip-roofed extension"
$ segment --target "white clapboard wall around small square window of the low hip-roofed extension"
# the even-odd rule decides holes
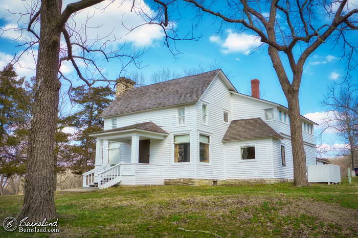
[[[255,145],[255,160],[240,160],[240,146]],[[225,142],[226,179],[271,178],[271,139]]]

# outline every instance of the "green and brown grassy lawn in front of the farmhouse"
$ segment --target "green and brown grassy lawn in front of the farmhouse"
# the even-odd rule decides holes
[[[1,222],[21,196],[0,197]],[[59,233],[1,237],[357,237],[358,177],[338,185],[121,187],[55,195]]]

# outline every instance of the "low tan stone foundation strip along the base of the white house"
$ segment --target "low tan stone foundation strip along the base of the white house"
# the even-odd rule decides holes
[[[282,178],[252,178],[252,179],[193,179],[193,178],[176,178],[164,179],[164,185],[176,186],[213,186],[213,185],[248,185],[248,184],[273,184],[283,182],[293,182],[293,179]]]

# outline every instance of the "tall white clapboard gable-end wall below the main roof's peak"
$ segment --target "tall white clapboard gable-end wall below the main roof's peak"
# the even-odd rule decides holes
[[[203,103],[207,105],[208,124],[203,124],[202,108]],[[196,158],[197,158],[197,178],[198,179],[224,179],[223,166],[223,144],[222,137],[229,127],[229,123],[223,121],[223,112],[231,114],[230,92],[216,78],[197,103],[197,133],[196,133]],[[209,164],[199,163],[199,135],[210,136],[210,155]]]

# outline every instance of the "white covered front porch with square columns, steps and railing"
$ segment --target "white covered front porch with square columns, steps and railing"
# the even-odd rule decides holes
[[[164,166],[152,164],[150,160],[150,141],[164,140],[168,135],[153,122],[89,134],[97,139],[96,160],[95,169],[83,174],[83,188],[101,189],[115,184],[164,184]],[[106,153],[105,142],[108,144]],[[126,153],[125,158],[121,157],[121,145],[130,147],[130,155]]]

